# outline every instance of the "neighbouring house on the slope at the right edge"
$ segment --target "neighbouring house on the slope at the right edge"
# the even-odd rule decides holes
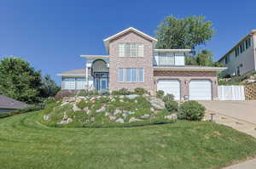
[[[235,47],[218,60],[228,67],[222,72],[224,76],[243,75],[256,70],[256,30],[242,38]]]

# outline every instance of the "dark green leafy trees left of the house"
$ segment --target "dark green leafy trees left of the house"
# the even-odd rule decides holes
[[[4,57],[0,60],[0,94],[33,104],[54,96],[58,89],[50,76],[42,78],[41,71],[24,59]]]

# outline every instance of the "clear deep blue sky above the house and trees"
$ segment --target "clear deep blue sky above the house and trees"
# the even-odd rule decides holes
[[[215,35],[201,48],[218,59],[256,29],[255,7],[255,0],[1,0],[0,58],[20,56],[60,83],[56,73],[84,67],[79,54],[106,54],[106,37],[130,26],[154,36],[168,15],[202,14]]]

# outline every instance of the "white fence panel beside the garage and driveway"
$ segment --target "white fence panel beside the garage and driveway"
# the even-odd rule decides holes
[[[218,86],[219,100],[245,100],[244,86]]]

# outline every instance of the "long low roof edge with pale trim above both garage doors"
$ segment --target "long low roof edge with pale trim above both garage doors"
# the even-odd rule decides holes
[[[206,67],[206,66],[170,66],[161,67],[154,66],[154,70],[195,70],[195,71],[222,71],[226,70],[227,67]]]

